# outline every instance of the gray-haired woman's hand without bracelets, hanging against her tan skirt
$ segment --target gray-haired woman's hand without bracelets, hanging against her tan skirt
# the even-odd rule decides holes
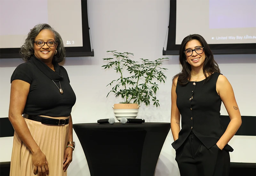
[[[49,175],[48,162],[41,150],[32,154],[32,163],[35,175],[36,173],[38,173],[38,176],[46,176],[46,174]]]

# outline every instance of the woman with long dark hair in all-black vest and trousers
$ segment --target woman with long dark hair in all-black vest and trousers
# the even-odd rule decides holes
[[[182,71],[173,77],[171,130],[180,175],[228,176],[228,145],[242,120],[235,95],[205,39],[185,37],[180,46]],[[230,123],[220,124],[221,102]],[[181,130],[180,130],[181,115]]]

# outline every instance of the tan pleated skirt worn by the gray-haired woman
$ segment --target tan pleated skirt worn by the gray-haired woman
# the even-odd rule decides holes
[[[68,124],[63,126],[46,125],[27,118],[24,119],[32,137],[46,156],[49,176],[67,176],[67,171],[63,171],[63,157],[68,143]],[[31,152],[16,132],[13,137],[10,176],[35,176]]]

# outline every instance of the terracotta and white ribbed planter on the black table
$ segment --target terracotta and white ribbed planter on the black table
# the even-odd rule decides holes
[[[125,118],[136,118],[139,112],[140,106],[136,104],[114,104],[112,107],[117,120]]]

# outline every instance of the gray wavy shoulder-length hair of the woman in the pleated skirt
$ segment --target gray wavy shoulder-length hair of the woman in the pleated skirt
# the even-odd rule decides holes
[[[34,41],[36,36],[42,30],[47,29],[53,32],[55,41],[58,43],[57,46],[57,54],[53,56],[52,61],[60,63],[66,57],[66,50],[64,47],[64,43],[60,37],[60,34],[55,31],[50,25],[48,24],[38,24],[33,29],[28,32],[28,37],[25,39],[24,44],[20,47],[20,56],[25,60],[30,60],[30,56],[35,53],[34,51]]]

